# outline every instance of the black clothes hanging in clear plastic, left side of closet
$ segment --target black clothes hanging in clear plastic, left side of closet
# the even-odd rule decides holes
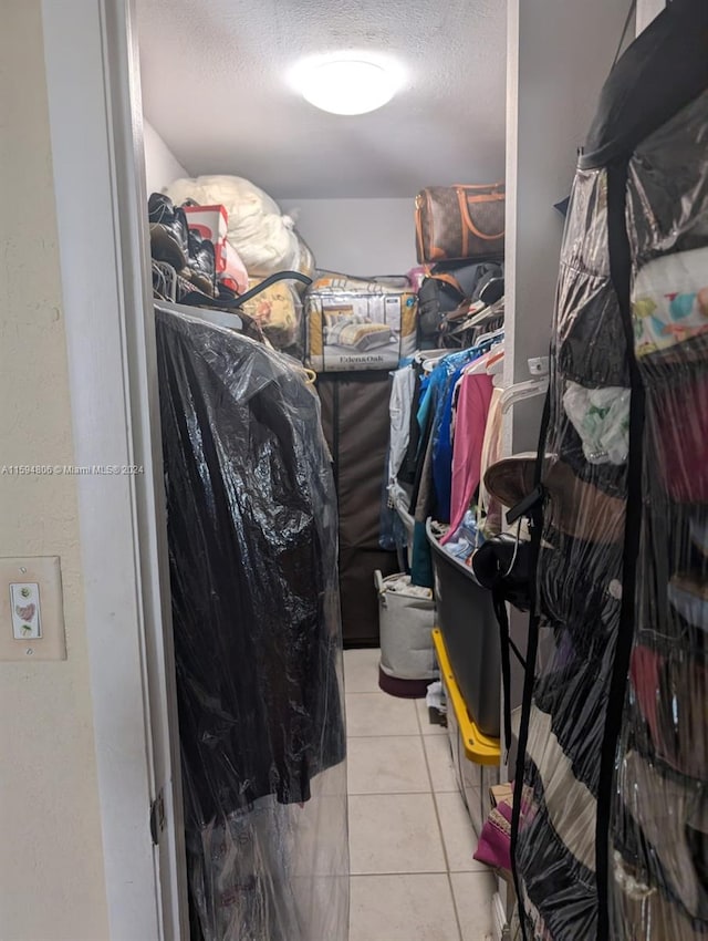
[[[157,309],[192,912],[205,941],[345,941],[336,503],[287,359]]]

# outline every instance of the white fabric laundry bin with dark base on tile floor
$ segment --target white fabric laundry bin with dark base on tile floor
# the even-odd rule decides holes
[[[378,592],[381,661],[378,685],[394,696],[421,699],[438,678],[433,628],[433,592],[410,583],[410,576],[374,572]]]

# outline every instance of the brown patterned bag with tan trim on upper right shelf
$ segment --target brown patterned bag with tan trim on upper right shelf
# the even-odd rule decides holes
[[[416,196],[418,261],[502,258],[504,211],[503,184],[423,189]]]

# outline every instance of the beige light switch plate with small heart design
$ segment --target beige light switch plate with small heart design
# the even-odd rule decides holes
[[[3,660],[66,660],[59,556],[0,558]]]

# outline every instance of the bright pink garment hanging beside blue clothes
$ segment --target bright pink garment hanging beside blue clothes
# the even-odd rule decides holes
[[[461,379],[452,449],[450,528],[440,540],[442,544],[457,532],[479,486],[482,443],[492,391],[492,378],[486,373],[467,374]]]

